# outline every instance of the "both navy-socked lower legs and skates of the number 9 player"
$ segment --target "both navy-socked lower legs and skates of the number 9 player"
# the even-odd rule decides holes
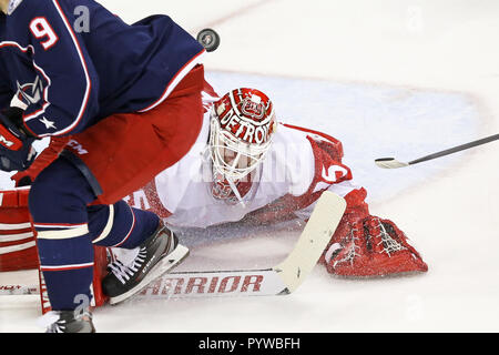
[[[40,270],[53,311],[44,316],[52,321],[47,324],[49,332],[94,331],[89,308],[94,244],[140,248],[130,267],[123,265],[120,272],[114,267],[104,280],[112,303],[139,292],[187,254],[155,214],[123,201],[88,206],[94,200],[92,184],[64,158],[41,172],[31,186]]]

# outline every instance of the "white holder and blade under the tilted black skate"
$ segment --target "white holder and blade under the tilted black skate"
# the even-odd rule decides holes
[[[153,282],[157,277],[162,276],[164,273],[177,266],[185,257],[187,257],[187,255],[189,255],[187,247],[181,244],[176,245],[173,252],[164,256],[160,262],[157,262],[156,265],[153,266],[153,268],[149,272],[149,274],[144,277],[144,280],[142,280],[141,283],[139,283],[135,287],[129,290],[124,294],[109,298],[109,303],[111,305],[115,305],[132,297],[134,294],[145,288],[151,282]]]

